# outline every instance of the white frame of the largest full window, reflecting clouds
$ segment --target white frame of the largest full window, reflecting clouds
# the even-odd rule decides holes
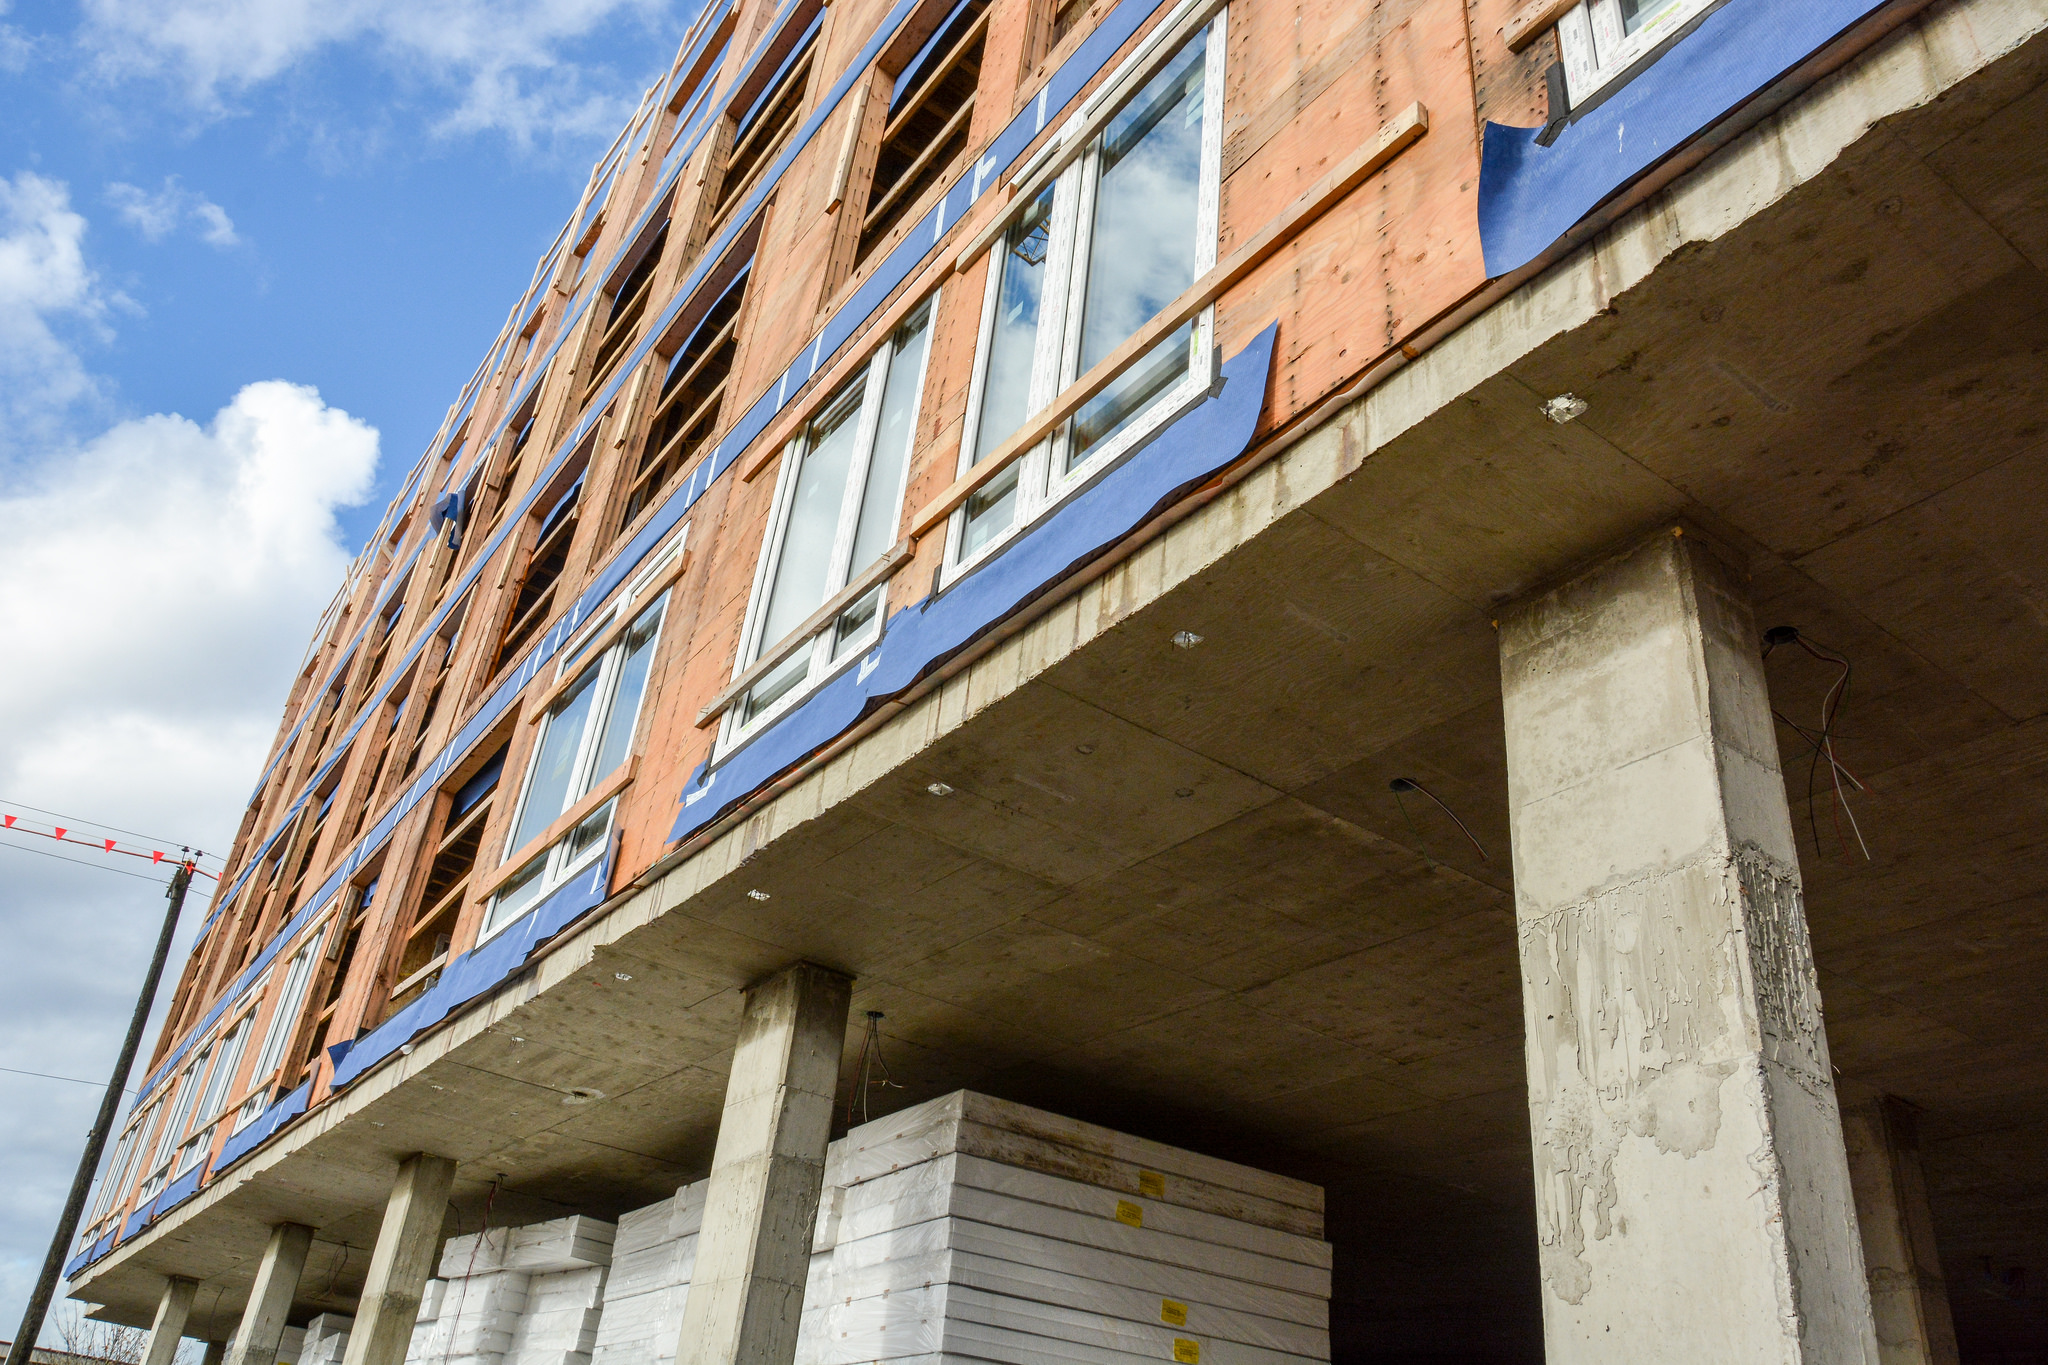
[[[1219,8],[1206,25],[1208,47],[1204,51],[1206,70],[1202,82],[1202,182],[1196,194],[1194,227],[1196,278],[1217,264],[1219,205],[1223,201],[1223,78],[1229,55],[1227,14],[1227,8]],[[1174,16],[1169,14],[1155,31],[1165,33],[1171,23]],[[1192,39],[1194,35],[1188,35],[1180,47],[1186,47]],[[1102,84],[1102,90],[1116,90],[1120,84],[1128,84],[1130,88],[1122,92],[1124,102],[1128,102],[1145,88],[1151,76],[1126,82],[1126,74],[1145,61],[1157,59],[1157,55],[1155,45],[1141,43],[1139,49],[1133,51],[1130,57],[1124,59],[1124,63],[1118,65],[1118,70]],[[1167,59],[1171,59],[1171,55],[1167,55]],[[1159,70],[1163,70],[1163,65]],[[1087,113],[1092,113],[1092,104],[1083,106],[1075,119],[1081,119]],[[1087,270],[1083,268],[1085,262],[1081,256],[1094,231],[1102,137],[1104,133],[1096,133],[1087,151],[1073,158],[1073,162],[1053,182],[1053,211],[1049,217],[1044,282],[1038,297],[1038,336],[1036,350],[1032,354],[1028,411],[1042,409],[1047,403],[1057,399],[1061,391],[1073,385],[1075,379],[1079,379],[1081,313],[1087,293]],[[1057,145],[1057,141],[1061,139],[1049,141],[1047,145]],[[1026,166],[1026,172],[1030,168]],[[975,467],[975,448],[981,440],[981,403],[987,387],[989,344],[995,332],[995,311],[1001,301],[1001,258],[1004,252],[1008,252],[1008,233],[1004,233],[989,246],[987,282],[983,284],[981,299],[981,332],[975,344],[975,368],[967,391],[967,420],[961,432],[961,475]],[[981,544],[965,557],[961,546],[967,534],[967,508],[958,508],[946,528],[946,561],[940,583],[950,585],[979,565],[987,563],[991,557],[1001,555],[1004,546],[1026,534],[1063,501],[1106,475],[1122,463],[1126,454],[1151,440],[1159,428],[1167,426],[1176,417],[1182,417],[1212,391],[1217,383],[1217,305],[1208,305],[1196,315],[1192,350],[1194,358],[1188,366],[1188,377],[1157,395],[1151,401],[1151,407],[1147,407],[1114,438],[1106,440],[1102,448],[1090,454],[1079,467],[1071,471],[1065,469],[1067,448],[1073,440],[1073,420],[1061,424],[1061,428],[1049,440],[1040,442],[1036,450],[1016,460],[1018,501],[1012,512],[1010,526],[991,536],[987,544]]]

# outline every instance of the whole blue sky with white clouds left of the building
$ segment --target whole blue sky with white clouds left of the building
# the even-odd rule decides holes
[[[0,0],[16,827],[227,851],[319,612],[692,12]],[[0,1338],[162,913],[150,864],[0,829]]]

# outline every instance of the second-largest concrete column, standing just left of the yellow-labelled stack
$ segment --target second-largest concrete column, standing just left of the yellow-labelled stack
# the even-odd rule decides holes
[[[797,1357],[850,999],[852,978],[809,962],[748,990],[676,1365]]]

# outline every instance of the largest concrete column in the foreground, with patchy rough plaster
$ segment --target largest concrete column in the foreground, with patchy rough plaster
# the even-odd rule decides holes
[[[1665,528],[1501,628],[1552,1365],[1874,1365],[1745,575]]]

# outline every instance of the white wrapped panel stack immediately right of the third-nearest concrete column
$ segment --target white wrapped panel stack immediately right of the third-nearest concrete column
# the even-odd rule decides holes
[[[408,1365],[590,1365],[612,1224],[557,1218],[451,1238]]]

